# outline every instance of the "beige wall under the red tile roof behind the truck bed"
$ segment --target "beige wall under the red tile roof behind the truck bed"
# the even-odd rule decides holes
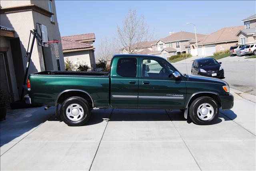
[[[91,67],[90,63],[90,51],[91,50],[83,50],[83,51],[74,51],[74,52],[64,52],[64,60],[68,58],[73,64],[77,62],[86,63]]]

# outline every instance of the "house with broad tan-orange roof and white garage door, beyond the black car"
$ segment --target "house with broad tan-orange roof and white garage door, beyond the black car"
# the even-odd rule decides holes
[[[238,44],[235,35],[243,27],[225,27],[207,35],[202,41],[198,42],[199,56],[212,56],[214,52],[229,50],[230,46]]]

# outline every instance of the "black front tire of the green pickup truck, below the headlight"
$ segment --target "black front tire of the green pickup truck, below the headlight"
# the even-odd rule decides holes
[[[210,112],[208,109],[207,111],[210,112],[210,114],[208,115],[202,115],[201,112],[202,110],[197,113],[198,107],[201,107],[203,104],[208,104],[206,105],[206,107],[212,107],[212,112]],[[211,106],[210,106],[210,105]],[[202,108],[201,108],[202,109]],[[191,120],[198,124],[198,125],[208,125],[210,124],[212,121],[214,121],[214,119],[218,118],[219,115],[219,106],[216,103],[216,101],[214,99],[212,99],[211,97],[207,97],[207,96],[202,96],[202,97],[198,97],[197,99],[195,99],[190,107],[189,107],[189,115]],[[205,117],[203,119],[207,119],[207,120],[203,120],[201,119],[202,117]]]

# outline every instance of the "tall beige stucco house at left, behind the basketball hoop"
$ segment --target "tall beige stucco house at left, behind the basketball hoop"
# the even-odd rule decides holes
[[[47,27],[48,40],[60,40],[54,0],[1,0],[0,8],[0,88],[4,94],[13,93],[11,101],[20,98],[26,71],[26,48],[30,30],[36,23]],[[44,52],[44,53],[43,53]],[[43,55],[44,54],[44,55]],[[62,46],[60,58],[52,55],[50,47],[34,44],[28,74],[44,70],[65,70]]]

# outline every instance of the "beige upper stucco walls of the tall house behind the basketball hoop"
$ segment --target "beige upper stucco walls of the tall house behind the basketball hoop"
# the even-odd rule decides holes
[[[22,4],[23,3],[23,4]],[[34,3],[46,10],[49,9],[48,1],[6,1],[1,0],[1,7],[10,7],[10,6],[21,6]],[[56,17],[55,2],[52,1],[52,12],[54,13],[54,22],[50,22],[48,16],[44,16],[35,11],[24,11],[16,13],[1,14],[1,25],[13,28],[15,30],[15,37],[20,38],[22,56],[26,54],[26,48],[28,46],[28,39],[30,35],[30,30],[36,28],[36,23],[43,24],[47,27],[48,40],[60,40],[60,32],[58,28],[58,21]],[[44,55],[46,58],[46,69],[47,70],[58,70],[57,62],[55,58],[52,58],[50,47],[44,47]],[[59,55],[60,55],[60,66],[64,70],[64,58],[62,53],[62,46],[59,46]],[[26,70],[26,59],[23,59],[24,70]],[[44,71],[44,60],[42,56],[42,48],[35,43],[33,48],[33,53],[31,56],[31,63],[29,73]]]

